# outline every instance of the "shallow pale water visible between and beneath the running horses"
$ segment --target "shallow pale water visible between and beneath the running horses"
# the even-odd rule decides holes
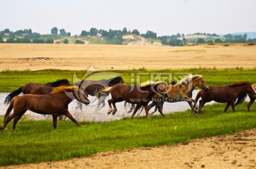
[[[193,91],[193,97],[196,98],[196,94],[198,93],[199,90],[194,90]],[[6,95],[9,93],[0,93],[0,115],[4,115],[6,112],[6,109],[8,106],[4,105],[4,98],[6,98]],[[127,113],[129,111],[130,105],[127,104],[127,106],[124,107],[124,102],[117,103],[117,112],[115,115],[107,115],[107,110],[109,109],[109,106],[107,104],[107,100],[110,99],[111,96],[108,96],[105,99],[105,107],[101,109],[97,109],[96,103],[97,100],[95,100],[95,97],[89,96],[89,99],[91,101],[90,105],[82,105],[82,110],[78,107],[78,103],[73,100],[73,102],[70,103],[69,105],[69,111],[70,113],[75,117],[76,120],[79,121],[90,121],[90,122],[107,122],[111,120],[120,120],[123,117],[130,117],[132,113]],[[247,101],[249,98],[247,97]],[[213,101],[210,103],[206,104],[212,104],[214,103]],[[223,110],[225,108],[225,105],[223,105]],[[184,110],[190,109],[189,105],[187,102],[177,102],[177,103],[164,103],[164,109],[163,112],[164,114],[166,113],[171,113],[171,112],[182,112]],[[154,111],[154,107],[149,110],[149,113]],[[138,114],[138,112],[137,112]],[[145,111],[143,110],[142,113],[140,113],[139,116],[145,116]],[[51,115],[39,115],[31,111],[27,111],[25,113],[26,119],[28,120],[52,120]],[[154,115],[159,115],[159,112],[155,112]],[[136,116],[136,115],[135,115]]]

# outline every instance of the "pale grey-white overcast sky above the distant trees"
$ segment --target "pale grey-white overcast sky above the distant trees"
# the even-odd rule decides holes
[[[151,30],[161,35],[256,32],[255,0],[0,0],[0,30]]]

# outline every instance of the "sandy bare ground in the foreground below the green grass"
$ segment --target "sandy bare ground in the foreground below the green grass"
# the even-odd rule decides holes
[[[188,144],[112,151],[90,158],[2,168],[256,168],[256,129],[196,139]]]

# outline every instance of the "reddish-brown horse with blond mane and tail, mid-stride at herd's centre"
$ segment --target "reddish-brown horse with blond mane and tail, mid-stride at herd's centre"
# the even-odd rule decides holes
[[[131,118],[134,117],[135,113],[141,106],[144,106],[146,111],[146,118],[149,118],[148,103],[151,98],[156,93],[160,93],[161,95],[164,95],[164,97],[168,96],[166,88],[164,87],[164,84],[161,83],[161,81],[146,81],[140,85],[128,85],[119,83],[110,88],[103,89],[97,95],[98,98],[100,97],[101,93],[111,93],[112,95],[112,98],[108,100],[110,105],[110,109],[107,112],[108,115],[110,115],[111,112],[112,115],[117,112],[117,107],[115,105],[117,102],[127,101],[127,103],[137,104]],[[111,104],[113,105],[114,109],[112,109]]]

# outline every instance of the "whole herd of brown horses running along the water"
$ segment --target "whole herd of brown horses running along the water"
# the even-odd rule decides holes
[[[196,87],[201,88],[201,91],[198,92],[196,100],[194,100],[192,92]],[[57,119],[60,115],[65,115],[78,126],[82,126],[68,111],[68,104],[76,99],[80,104],[88,105],[90,104],[90,100],[87,98],[88,95],[97,96],[99,99],[97,107],[104,107],[105,98],[111,94],[112,98],[108,100],[110,109],[107,114],[112,113],[112,115],[117,112],[115,103],[122,101],[132,103],[131,110],[129,110],[129,112],[133,110],[131,118],[141,107],[144,107],[147,118],[152,107],[155,107],[154,112],[158,110],[164,117],[162,112],[164,102],[174,103],[179,101],[188,102],[195,115],[201,112],[205,103],[212,100],[218,103],[227,103],[224,112],[228,110],[230,105],[233,112],[235,112],[235,105],[242,103],[247,95],[250,97],[247,110],[250,111],[250,105],[256,99],[255,89],[256,83],[251,85],[247,81],[233,83],[229,86],[208,86],[201,75],[186,76],[181,81],[171,82],[167,85],[161,81],[146,81],[140,85],[129,85],[124,83],[121,76],[100,81],[82,80],[74,85],[70,85],[67,79],[46,84],[28,83],[6,96],[4,103],[10,105],[6,110],[4,124],[0,127],[0,130],[4,129],[14,119],[12,126],[14,131],[16,123],[26,110],[42,115],[52,115],[54,128],[57,127]],[[23,95],[19,95],[20,93],[23,93]],[[199,107],[196,104],[198,100]],[[149,105],[150,101],[151,104]],[[11,113],[13,109],[14,112]]]

